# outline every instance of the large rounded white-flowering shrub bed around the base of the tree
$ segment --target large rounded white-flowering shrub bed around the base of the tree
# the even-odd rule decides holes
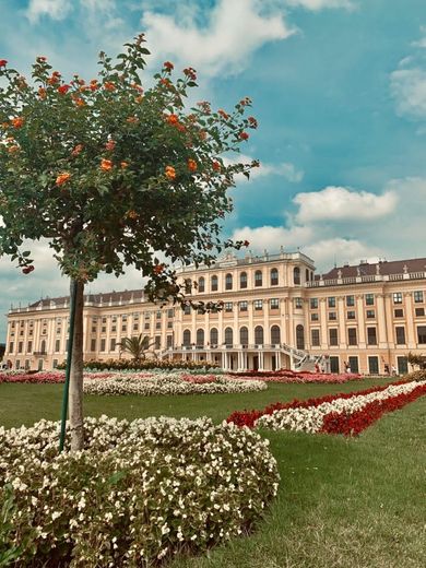
[[[58,454],[59,423],[0,428],[0,565],[139,567],[252,526],[277,490],[268,441],[209,418],[102,416]],[[3,560],[3,563],[1,561]]]

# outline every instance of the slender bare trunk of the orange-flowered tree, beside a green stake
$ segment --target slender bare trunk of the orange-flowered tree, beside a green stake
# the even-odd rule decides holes
[[[71,281],[72,286],[72,281]],[[69,418],[71,427],[71,451],[83,449],[83,307],[84,283],[78,281],[75,295],[75,319],[71,357]]]

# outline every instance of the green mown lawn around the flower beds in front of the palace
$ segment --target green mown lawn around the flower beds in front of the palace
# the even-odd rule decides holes
[[[338,386],[270,384],[247,394],[86,397],[87,415],[209,415],[277,400],[362,390],[383,379]],[[0,424],[57,418],[61,386],[0,384]],[[426,566],[426,401],[387,414],[359,438],[262,433],[279,461],[280,493],[257,531],[169,568],[423,568]]]

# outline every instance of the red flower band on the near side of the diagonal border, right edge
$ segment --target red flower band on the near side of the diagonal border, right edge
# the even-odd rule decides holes
[[[378,421],[386,412],[398,411],[424,394],[426,394],[426,384],[419,384],[412,392],[399,394],[398,397],[392,397],[383,401],[370,402],[366,404],[364,409],[351,414],[346,412],[331,412],[323,418],[321,433],[357,436]]]

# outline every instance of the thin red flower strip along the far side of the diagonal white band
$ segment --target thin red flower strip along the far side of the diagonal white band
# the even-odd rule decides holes
[[[252,428],[255,426],[255,422],[263,416],[264,414],[272,414],[274,411],[283,411],[286,409],[297,409],[297,407],[308,407],[308,406],[319,406],[323,402],[331,402],[335,399],[350,399],[356,394],[369,394],[370,392],[380,392],[387,389],[390,384],[402,384],[406,382],[405,380],[399,380],[392,383],[388,383],[384,387],[372,387],[370,389],[365,389],[362,391],[353,391],[353,392],[341,392],[338,394],[326,394],[324,397],[319,397],[316,399],[307,399],[304,401],[299,401],[298,399],[293,400],[292,402],[275,402],[274,404],[270,404],[265,406],[263,410],[252,410],[252,411],[235,411],[227,418],[226,422],[233,422],[237,426],[248,426]]]

